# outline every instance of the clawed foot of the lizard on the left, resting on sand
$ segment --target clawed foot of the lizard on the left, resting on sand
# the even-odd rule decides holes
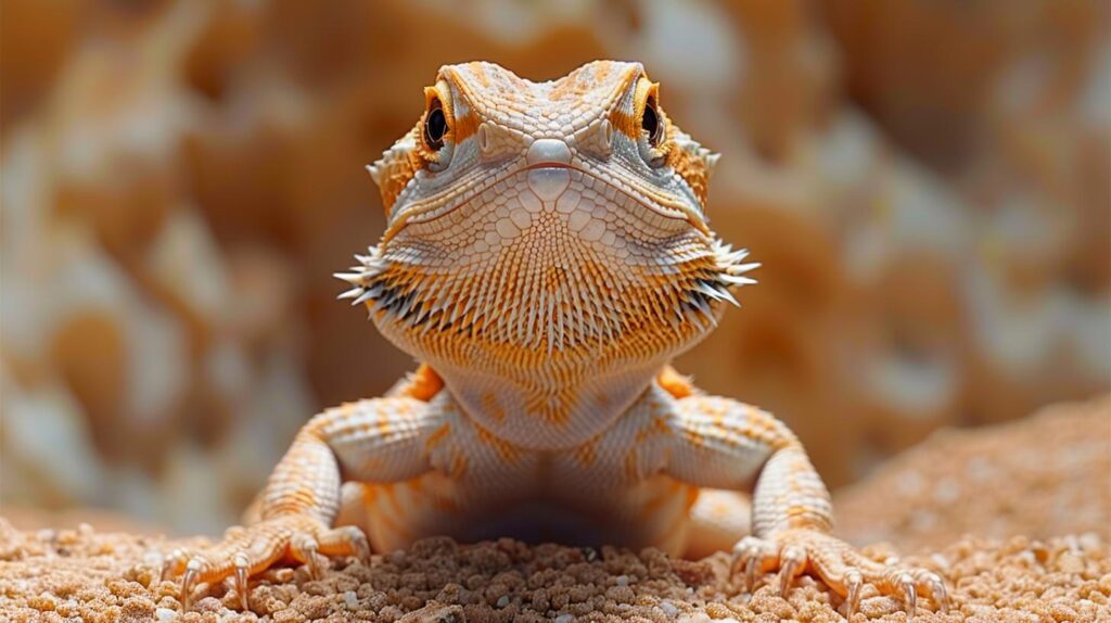
[[[181,607],[188,611],[198,584],[233,577],[246,611],[248,580],[274,563],[291,559],[308,564],[309,573],[319,577],[328,567],[326,556],[348,555],[370,557],[367,536],[358,527],[329,529],[310,516],[281,515],[249,527],[231,527],[223,541],[201,551],[174,550],[162,565],[162,579],[181,576]]]

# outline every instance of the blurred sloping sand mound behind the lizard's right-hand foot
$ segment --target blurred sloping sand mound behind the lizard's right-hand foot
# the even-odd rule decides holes
[[[834,494],[838,533],[903,551],[964,534],[1111,541],[1111,396],[1030,418],[940,431]]]

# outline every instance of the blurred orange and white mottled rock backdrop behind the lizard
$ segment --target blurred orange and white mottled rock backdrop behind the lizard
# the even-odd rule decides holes
[[[1100,0],[0,1],[0,506],[219,533],[413,366],[331,272],[439,66],[641,60],[763,262],[679,361],[827,482],[1111,385]]]

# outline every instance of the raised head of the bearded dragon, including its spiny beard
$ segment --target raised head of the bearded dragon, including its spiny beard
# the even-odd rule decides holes
[[[640,63],[540,83],[443,67],[416,127],[369,168],[387,231],[339,275],[344,295],[441,368],[670,358],[751,282],[754,264],[709,228],[715,160]]]

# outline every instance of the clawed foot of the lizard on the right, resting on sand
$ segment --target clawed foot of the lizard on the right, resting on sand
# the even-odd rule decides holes
[[[901,596],[908,620],[914,617],[919,595],[929,596],[941,612],[949,609],[945,584],[937,573],[878,563],[844,541],[817,530],[787,530],[769,539],[745,536],[733,547],[731,574],[743,572],[748,592],[755,590],[760,575],[777,570],[783,596],[802,573],[810,571],[818,575],[844,597],[848,621],[857,612],[865,586],[873,586],[881,594]]]

